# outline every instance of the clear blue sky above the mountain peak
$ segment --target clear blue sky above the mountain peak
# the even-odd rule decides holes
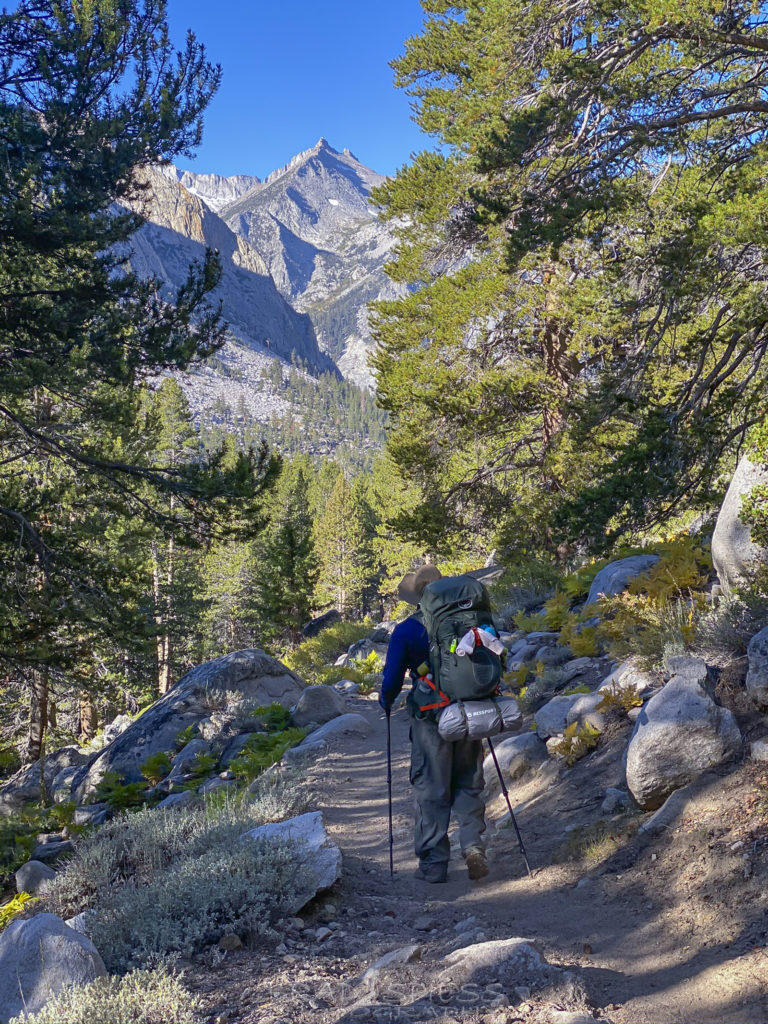
[[[420,30],[418,0],[169,0],[168,13],[174,39],[190,28],[223,69],[182,167],[264,177],[325,136],[391,174],[429,145],[388,65]]]

